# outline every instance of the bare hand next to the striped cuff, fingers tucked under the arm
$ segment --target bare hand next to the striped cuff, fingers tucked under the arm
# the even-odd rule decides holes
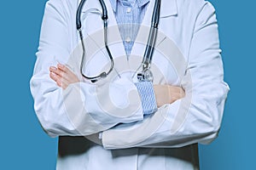
[[[154,85],[154,95],[157,107],[172,104],[185,96],[183,88],[170,85]]]

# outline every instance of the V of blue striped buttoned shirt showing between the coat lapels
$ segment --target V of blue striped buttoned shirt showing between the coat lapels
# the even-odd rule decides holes
[[[149,0],[110,0],[110,3],[119,25],[125,52],[129,56]]]

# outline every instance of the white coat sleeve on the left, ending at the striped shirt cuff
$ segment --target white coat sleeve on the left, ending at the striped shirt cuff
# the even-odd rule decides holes
[[[141,121],[143,111],[137,88],[125,77],[115,82],[106,79],[98,85],[73,83],[65,90],[50,79],[49,66],[65,64],[73,50],[75,17],[69,16],[67,10],[61,0],[46,3],[30,82],[34,109],[44,131],[52,137],[81,136],[98,133],[120,122]]]

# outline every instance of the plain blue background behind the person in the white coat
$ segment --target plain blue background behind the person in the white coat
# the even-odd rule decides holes
[[[33,111],[29,80],[44,1],[3,1],[1,41],[1,169],[55,169],[57,139]],[[255,1],[211,1],[218,16],[225,81],[230,94],[218,139],[200,145],[201,169],[252,169],[255,164]]]

